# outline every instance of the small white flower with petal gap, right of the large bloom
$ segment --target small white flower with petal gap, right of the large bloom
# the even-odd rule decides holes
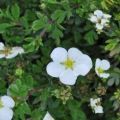
[[[109,73],[106,73],[105,71],[110,68],[110,62],[107,60],[96,60],[95,64],[95,71],[96,74],[101,78],[108,78],[110,76]]]

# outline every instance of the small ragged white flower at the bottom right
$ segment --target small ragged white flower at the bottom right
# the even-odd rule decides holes
[[[101,99],[90,99],[90,106],[95,113],[103,113],[103,107],[101,106]]]

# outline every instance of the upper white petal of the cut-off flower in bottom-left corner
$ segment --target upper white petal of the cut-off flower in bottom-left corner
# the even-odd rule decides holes
[[[5,107],[13,108],[15,106],[15,102],[10,96],[2,96],[1,101]]]

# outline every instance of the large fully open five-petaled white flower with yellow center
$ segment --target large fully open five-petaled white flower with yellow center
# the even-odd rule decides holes
[[[53,61],[47,65],[47,73],[66,85],[74,85],[79,75],[85,76],[92,68],[91,58],[77,48],[57,47],[50,56]]]

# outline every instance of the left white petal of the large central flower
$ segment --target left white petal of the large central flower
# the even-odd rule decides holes
[[[50,62],[47,65],[47,73],[52,77],[59,77],[61,72],[64,72],[65,68],[63,65],[55,62]]]

